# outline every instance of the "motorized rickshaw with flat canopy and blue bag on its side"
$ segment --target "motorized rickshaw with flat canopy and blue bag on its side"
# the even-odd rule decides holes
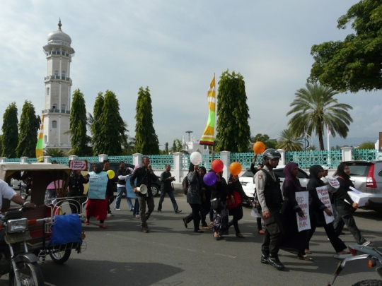
[[[23,245],[26,242],[28,251],[35,254],[40,262],[44,262],[49,255],[55,263],[64,263],[72,250],[80,253],[86,249],[81,227],[81,219],[85,218],[86,196],[67,197],[70,174],[69,167],[58,164],[0,163],[0,179],[8,184],[11,178],[21,181],[33,179],[30,202],[35,203],[36,207],[22,213],[21,216],[28,219],[28,230],[18,234],[13,242],[19,241]],[[56,198],[46,198],[48,186],[50,189],[54,187]],[[73,208],[70,206],[73,205],[77,209],[75,214],[71,214]],[[3,199],[1,213],[11,213],[19,208],[11,208],[11,202]],[[70,234],[69,237],[66,234]],[[23,245],[19,251],[25,251]]]

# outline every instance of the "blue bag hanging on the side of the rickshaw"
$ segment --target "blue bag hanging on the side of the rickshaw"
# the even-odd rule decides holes
[[[71,242],[82,242],[82,225],[79,215],[54,216],[52,237],[48,245],[69,244]]]

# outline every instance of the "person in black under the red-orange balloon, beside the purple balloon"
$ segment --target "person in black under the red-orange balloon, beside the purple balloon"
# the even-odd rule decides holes
[[[227,196],[231,200],[233,196],[231,196],[231,193],[228,191],[228,185],[226,179],[223,177],[223,171],[216,173],[216,175],[216,183],[211,186],[211,200],[214,198],[218,199],[219,206],[214,210],[212,230],[214,231],[214,238],[220,240],[223,238],[222,235],[229,234]]]

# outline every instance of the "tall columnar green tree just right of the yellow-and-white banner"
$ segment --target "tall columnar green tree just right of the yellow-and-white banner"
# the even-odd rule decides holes
[[[250,145],[245,83],[240,73],[221,74],[218,89],[216,151],[247,152]]]

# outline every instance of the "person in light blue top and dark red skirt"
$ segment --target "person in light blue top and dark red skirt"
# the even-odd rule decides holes
[[[102,169],[102,164],[93,164],[93,172],[88,173],[89,189],[85,224],[89,225],[90,218],[96,217],[96,220],[100,220],[99,227],[106,228],[104,222],[105,219],[108,218],[107,193],[112,191],[112,189],[110,189],[110,187],[112,188],[112,184],[109,184],[111,180],[108,179],[108,173],[102,172]]]

